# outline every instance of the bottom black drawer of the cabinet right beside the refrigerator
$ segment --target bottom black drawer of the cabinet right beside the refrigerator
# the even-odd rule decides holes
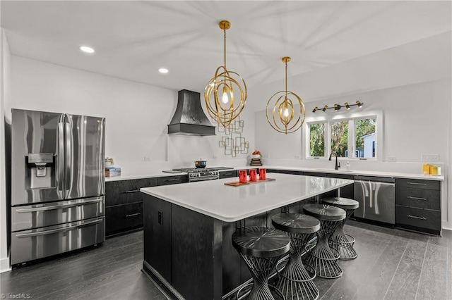
[[[143,227],[143,202],[105,208],[105,234],[124,232]]]

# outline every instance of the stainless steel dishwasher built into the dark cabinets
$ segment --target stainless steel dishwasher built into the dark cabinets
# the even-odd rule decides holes
[[[396,180],[355,176],[356,218],[396,224]]]

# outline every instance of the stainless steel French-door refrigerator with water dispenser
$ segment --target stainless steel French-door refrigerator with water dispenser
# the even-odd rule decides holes
[[[105,241],[105,118],[12,110],[11,264]]]

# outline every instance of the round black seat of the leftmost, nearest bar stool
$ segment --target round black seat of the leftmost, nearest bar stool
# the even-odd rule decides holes
[[[243,227],[232,234],[232,245],[241,254],[266,258],[287,253],[290,239],[273,228]]]

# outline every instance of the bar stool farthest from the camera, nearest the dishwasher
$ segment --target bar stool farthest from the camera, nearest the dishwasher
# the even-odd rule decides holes
[[[342,208],[346,214],[345,219],[340,221],[338,227],[328,239],[328,244],[331,247],[338,249],[340,253],[339,259],[348,260],[357,258],[358,254],[356,253],[355,249],[353,249],[353,245],[355,244],[355,237],[347,235],[344,232],[344,225],[345,221],[347,221],[348,218],[350,218],[350,215],[352,215],[352,213],[355,211],[355,209],[359,207],[359,202],[343,197],[323,198],[321,199],[321,201],[325,204]]]

